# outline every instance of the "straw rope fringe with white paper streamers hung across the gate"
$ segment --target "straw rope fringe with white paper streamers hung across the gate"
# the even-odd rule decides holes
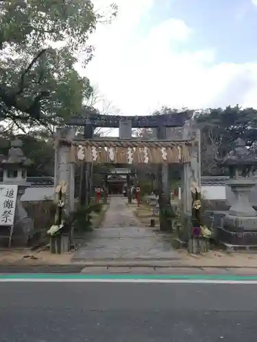
[[[76,146],[76,148],[74,148]],[[188,163],[191,142],[95,141],[71,143],[71,162],[127,164]]]

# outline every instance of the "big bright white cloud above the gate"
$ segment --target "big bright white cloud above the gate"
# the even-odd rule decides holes
[[[257,102],[257,77],[251,76],[257,64],[215,64],[215,49],[189,51],[197,33],[179,18],[156,23],[154,0],[116,3],[118,17],[97,28],[91,38],[95,57],[82,73],[123,114],[147,115],[162,105],[198,109]]]

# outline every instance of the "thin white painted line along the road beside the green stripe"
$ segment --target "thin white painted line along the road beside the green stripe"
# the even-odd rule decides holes
[[[249,284],[257,285],[257,280],[206,280],[206,279],[53,279],[53,278],[1,278],[0,282],[120,282],[142,284]]]

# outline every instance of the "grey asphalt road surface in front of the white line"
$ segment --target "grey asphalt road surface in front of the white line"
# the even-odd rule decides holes
[[[254,342],[257,285],[1,282],[0,341]]]

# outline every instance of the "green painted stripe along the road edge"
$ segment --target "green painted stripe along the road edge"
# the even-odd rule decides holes
[[[49,280],[229,280],[246,281],[257,280],[257,276],[238,276],[232,274],[43,274],[43,273],[21,273],[0,274],[0,280],[26,280],[26,279],[49,279]]]

